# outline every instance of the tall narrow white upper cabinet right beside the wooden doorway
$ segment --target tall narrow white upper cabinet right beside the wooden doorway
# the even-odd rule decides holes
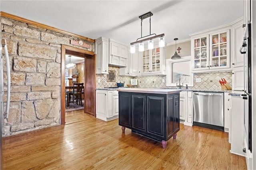
[[[108,39],[96,39],[96,74],[108,74]]]

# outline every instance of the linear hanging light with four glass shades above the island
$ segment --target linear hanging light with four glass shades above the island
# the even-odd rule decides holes
[[[154,48],[154,41],[153,39],[155,38],[159,38],[159,47],[164,47],[165,46],[165,43],[164,43],[164,34],[159,34],[159,35],[156,35],[156,34],[151,34],[151,16],[152,16],[152,12],[148,12],[146,14],[143,14],[141,16],[139,16],[140,18],[140,26],[141,26],[141,38],[145,38],[145,37],[149,37],[149,38],[145,38],[145,39],[142,39],[140,40],[141,38],[138,38],[136,40],[136,42],[132,42],[131,43],[131,47],[130,47],[130,53],[135,53],[136,51],[136,47],[134,44],[136,43],[139,43],[139,51],[144,51],[144,42],[145,41],[148,41],[148,49],[153,49]],[[148,36],[144,36],[142,37],[142,20],[144,20],[145,18],[148,18],[149,17],[149,35]],[[155,36],[153,36],[155,35]]]

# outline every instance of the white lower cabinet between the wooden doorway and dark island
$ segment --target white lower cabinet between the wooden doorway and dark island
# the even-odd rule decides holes
[[[96,90],[96,118],[103,121],[118,118],[118,91]]]

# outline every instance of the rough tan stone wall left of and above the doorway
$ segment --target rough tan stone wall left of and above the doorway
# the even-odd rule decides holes
[[[60,124],[61,44],[78,38],[1,17],[11,67],[10,112],[5,136]],[[76,45],[73,47],[94,51]],[[4,59],[4,102],[6,102]]]

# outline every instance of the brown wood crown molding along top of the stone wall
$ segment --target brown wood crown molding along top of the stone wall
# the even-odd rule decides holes
[[[73,37],[79,38],[81,40],[86,40],[88,42],[95,43],[95,40],[93,40],[93,39],[90,39],[90,38],[87,38],[87,37],[84,37],[84,36],[80,36],[78,34],[73,34],[71,32],[67,32],[67,31],[64,31],[64,30],[60,30],[58,28],[54,28],[54,27],[48,26],[46,24],[41,24],[39,22],[28,20],[26,18],[22,18],[22,17],[16,16],[16,15],[8,14],[6,12],[0,11],[0,16],[6,17],[6,18],[10,18],[10,19],[13,19],[13,20],[17,20],[17,21],[20,21],[20,22],[25,22],[27,24],[32,24],[34,26],[42,27],[42,28],[45,28],[45,29],[48,29],[48,30],[52,30],[52,31],[58,32],[58,33],[66,34],[68,36],[73,36]]]

